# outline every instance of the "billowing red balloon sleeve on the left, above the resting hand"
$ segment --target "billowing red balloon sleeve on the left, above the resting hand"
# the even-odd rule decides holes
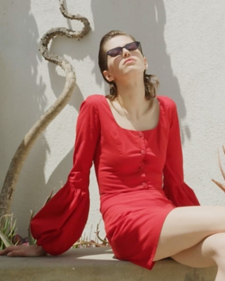
[[[79,240],[89,212],[89,175],[98,138],[100,120],[93,96],[82,104],[76,123],[74,165],[67,183],[31,221],[37,244],[48,254],[67,251]]]

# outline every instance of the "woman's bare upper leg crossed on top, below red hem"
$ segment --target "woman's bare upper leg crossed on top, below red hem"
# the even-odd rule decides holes
[[[154,261],[189,249],[215,233],[225,233],[225,207],[178,207],[168,214]],[[225,280],[225,279],[224,279]]]

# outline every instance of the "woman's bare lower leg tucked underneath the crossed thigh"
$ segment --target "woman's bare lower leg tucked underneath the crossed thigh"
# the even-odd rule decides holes
[[[171,256],[175,261],[186,266],[204,268],[218,266],[215,281],[225,280],[225,233],[206,237],[195,246]]]

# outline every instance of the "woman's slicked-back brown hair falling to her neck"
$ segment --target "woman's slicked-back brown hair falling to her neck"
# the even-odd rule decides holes
[[[100,41],[100,51],[98,53],[98,65],[100,67],[100,71],[102,73],[102,76],[104,78],[105,81],[107,81],[107,79],[104,77],[103,72],[106,69],[106,65],[107,65],[107,56],[106,56],[106,51],[104,51],[104,44],[109,41],[109,39],[116,37],[118,35],[125,35],[130,37],[132,40],[136,41],[134,37],[132,37],[129,34],[126,34],[125,32],[119,31],[119,30],[111,30],[110,32],[108,32],[107,34],[104,35],[104,37],[102,37],[102,40]],[[141,53],[142,53],[142,49],[140,49]],[[142,53],[143,55],[143,53]],[[114,100],[117,97],[117,88],[116,88],[116,83],[114,81],[107,81],[107,83],[109,84],[109,95],[107,95],[107,98],[109,98],[109,100]],[[154,98],[156,96],[156,92],[158,89],[158,79],[156,78],[156,76],[154,75],[149,75],[146,74],[146,70],[144,70],[144,88],[145,88],[145,97],[150,100],[151,98]]]

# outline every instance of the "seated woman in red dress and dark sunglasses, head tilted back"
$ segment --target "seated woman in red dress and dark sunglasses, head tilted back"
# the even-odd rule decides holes
[[[102,38],[99,65],[110,94],[90,96],[81,105],[67,183],[31,223],[38,245],[8,247],[0,254],[67,251],[88,218],[94,162],[100,211],[118,259],[149,269],[168,256],[193,267],[217,264],[216,280],[224,280],[224,207],[198,206],[184,183],[175,103],[156,97],[158,81],[145,73],[141,45],[125,32]]]

